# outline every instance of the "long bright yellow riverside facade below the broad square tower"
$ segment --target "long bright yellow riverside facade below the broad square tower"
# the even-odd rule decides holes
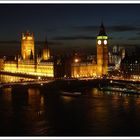
[[[18,63],[15,61],[7,61],[4,63],[4,71],[27,75],[54,77],[54,63],[41,62],[39,64],[34,64],[33,61],[21,61]]]

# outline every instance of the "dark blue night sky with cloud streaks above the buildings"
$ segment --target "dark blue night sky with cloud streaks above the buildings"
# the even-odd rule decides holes
[[[139,46],[140,4],[0,4],[0,55],[19,53],[27,30],[54,52],[94,51],[102,19],[110,46]]]

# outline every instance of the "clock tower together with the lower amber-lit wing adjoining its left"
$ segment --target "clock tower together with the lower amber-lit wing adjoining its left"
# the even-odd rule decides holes
[[[108,37],[105,33],[105,28],[101,24],[99,35],[97,36],[97,64],[80,62],[75,59],[75,63],[71,65],[72,77],[102,77],[108,73]]]

